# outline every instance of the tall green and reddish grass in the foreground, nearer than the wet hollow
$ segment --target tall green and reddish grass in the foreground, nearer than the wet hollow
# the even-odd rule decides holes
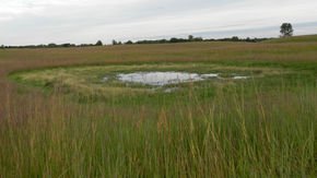
[[[0,175],[313,177],[317,93],[313,86],[296,90],[239,84],[201,99],[191,88],[181,103],[163,102],[158,109],[74,104],[58,90],[45,98],[28,94],[27,108],[21,108],[8,92]]]

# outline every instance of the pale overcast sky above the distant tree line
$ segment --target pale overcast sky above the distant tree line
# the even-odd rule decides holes
[[[0,0],[0,45],[317,34],[316,0]]]

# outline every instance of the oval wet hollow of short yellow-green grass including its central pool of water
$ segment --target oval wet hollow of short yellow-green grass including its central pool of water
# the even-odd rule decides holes
[[[215,84],[234,84],[248,79],[280,75],[284,70],[273,68],[246,68],[214,63],[162,63],[131,66],[60,67],[54,69],[16,72],[11,79],[43,88],[61,87],[68,93],[94,93],[96,95],[131,92],[175,91],[187,88],[186,83],[208,87]],[[177,86],[175,86],[177,85]]]

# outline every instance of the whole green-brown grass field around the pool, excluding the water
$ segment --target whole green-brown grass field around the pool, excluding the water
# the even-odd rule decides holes
[[[101,82],[139,71],[250,78]],[[0,177],[317,176],[314,35],[0,50]]]

